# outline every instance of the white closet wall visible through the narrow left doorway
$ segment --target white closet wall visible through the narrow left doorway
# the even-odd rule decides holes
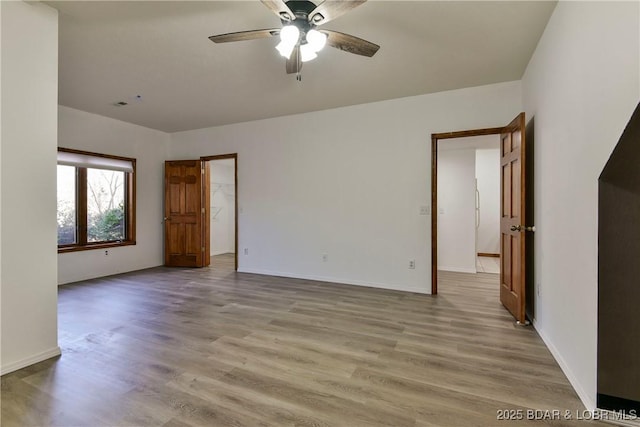
[[[233,160],[212,160],[211,255],[235,252],[235,167]]]

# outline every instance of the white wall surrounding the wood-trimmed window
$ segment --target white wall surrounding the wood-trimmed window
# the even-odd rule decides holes
[[[115,107],[114,107],[115,108]],[[68,107],[59,108],[58,145],[136,159],[136,245],[58,254],[58,283],[162,265],[164,161],[169,135]]]

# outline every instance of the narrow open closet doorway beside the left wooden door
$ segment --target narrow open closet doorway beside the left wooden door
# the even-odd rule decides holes
[[[203,157],[209,168],[209,250],[212,268],[238,269],[237,155]]]

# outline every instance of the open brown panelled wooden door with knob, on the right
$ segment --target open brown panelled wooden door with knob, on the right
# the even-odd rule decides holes
[[[500,135],[501,218],[500,301],[518,323],[526,324],[526,158],[524,113],[506,126]]]

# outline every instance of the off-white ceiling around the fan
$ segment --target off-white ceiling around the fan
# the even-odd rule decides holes
[[[207,38],[279,28],[259,1],[45,3],[60,11],[60,104],[166,132],[518,80],[556,4],[370,0],[324,28],[378,53],[327,47],[297,82],[275,38]]]

